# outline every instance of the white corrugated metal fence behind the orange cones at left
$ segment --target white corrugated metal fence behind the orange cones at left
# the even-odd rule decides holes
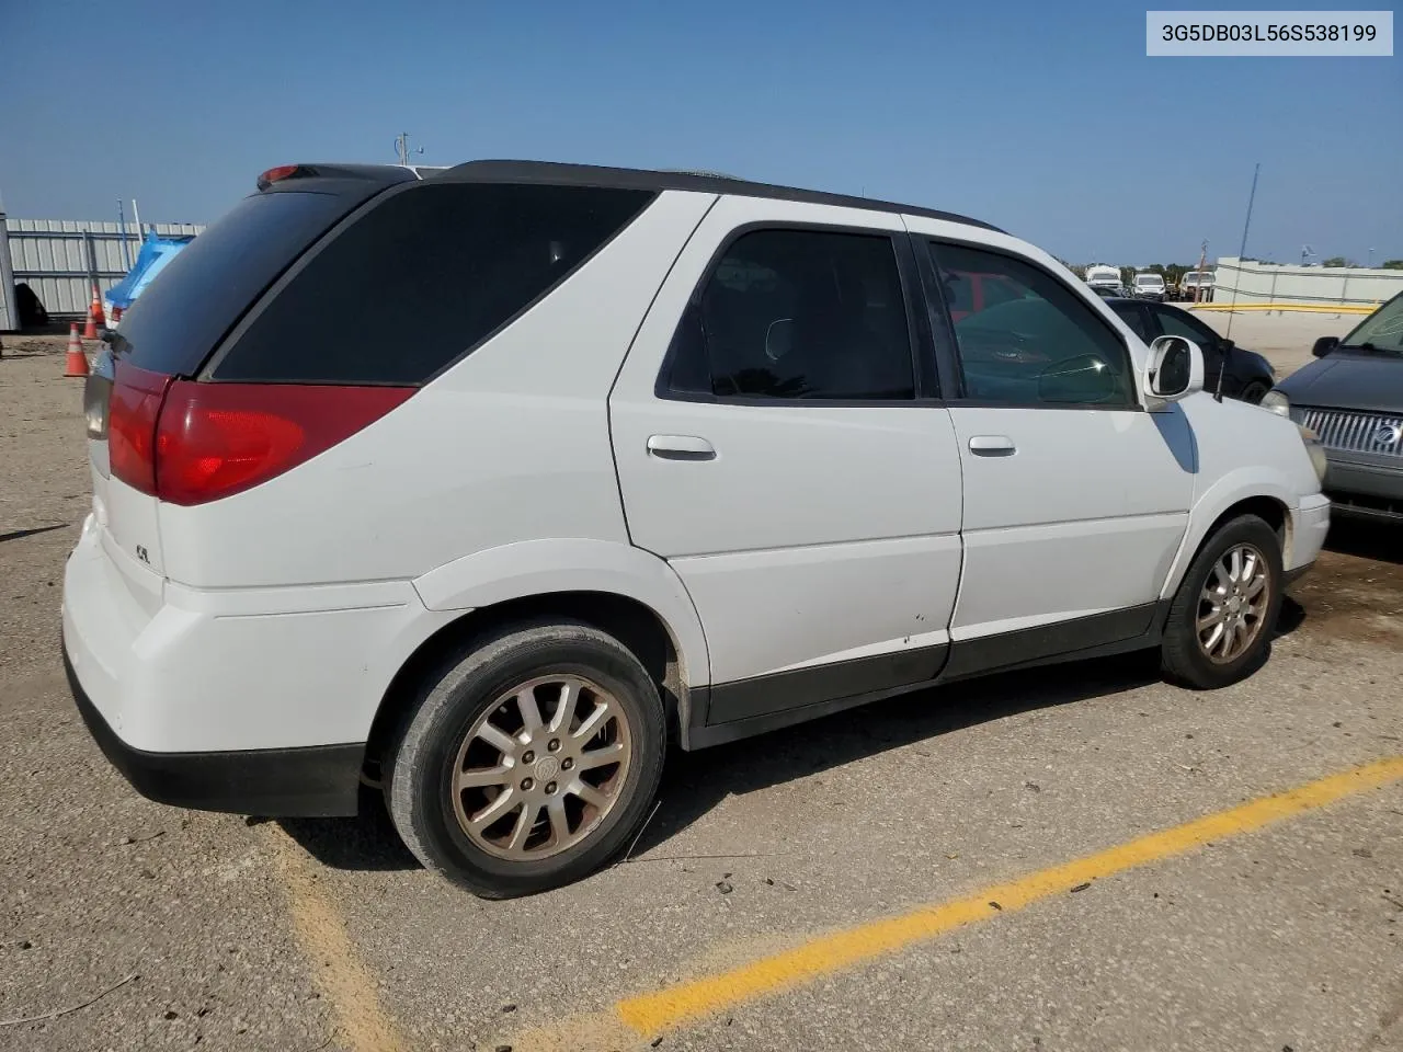
[[[163,237],[199,234],[196,223],[146,223]],[[81,318],[93,302],[93,283],[107,290],[119,282],[142,247],[136,223],[84,223],[73,219],[7,219],[0,213],[0,331],[20,318],[14,286],[28,285],[52,318]]]

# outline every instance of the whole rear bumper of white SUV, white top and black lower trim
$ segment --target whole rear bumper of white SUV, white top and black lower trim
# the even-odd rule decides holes
[[[102,752],[166,804],[355,814],[375,715],[457,612],[405,582],[184,588],[116,561],[93,516],[63,579],[63,662]]]

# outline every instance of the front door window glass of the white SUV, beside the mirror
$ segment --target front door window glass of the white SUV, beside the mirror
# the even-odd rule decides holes
[[[1047,271],[1012,257],[932,244],[943,288],[999,275],[1019,299],[951,321],[965,396],[1012,405],[1134,404],[1129,359],[1113,328]]]

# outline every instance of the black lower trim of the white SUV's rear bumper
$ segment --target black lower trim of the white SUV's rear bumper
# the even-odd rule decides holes
[[[239,752],[145,752],[123,742],[83,690],[67,645],[63,670],[102,755],[147,800],[240,815],[354,815],[365,745]]]

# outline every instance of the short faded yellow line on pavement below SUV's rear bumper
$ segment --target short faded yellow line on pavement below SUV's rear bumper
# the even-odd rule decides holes
[[[264,828],[297,943],[331,1006],[335,1037],[352,1052],[405,1052],[408,1045],[380,1004],[375,978],[347,934],[341,912],[309,871],[303,849],[278,826]]]

